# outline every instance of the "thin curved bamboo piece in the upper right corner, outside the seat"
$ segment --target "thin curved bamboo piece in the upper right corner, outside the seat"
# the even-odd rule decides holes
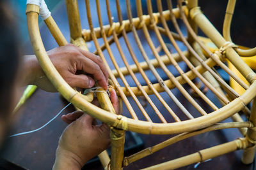
[[[230,42],[232,42],[232,39],[230,36],[230,25],[231,25],[235,6],[236,6],[236,0],[228,0],[226,15],[223,23],[223,37]],[[256,47],[248,50],[244,50],[241,48],[234,48],[234,50],[236,50],[236,52],[241,57],[252,57],[253,55],[256,55]]]

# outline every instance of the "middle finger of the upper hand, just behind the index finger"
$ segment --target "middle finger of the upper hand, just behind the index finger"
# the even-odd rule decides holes
[[[106,66],[104,65],[104,63],[102,62],[102,60],[100,59],[99,56],[90,53],[90,52],[86,52],[84,50],[82,50],[81,48],[79,48],[79,51],[85,56],[88,57],[90,60],[92,60],[93,62],[95,62],[96,64],[98,64],[100,66],[101,71],[103,72],[106,81],[108,81],[108,70],[106,68]]]

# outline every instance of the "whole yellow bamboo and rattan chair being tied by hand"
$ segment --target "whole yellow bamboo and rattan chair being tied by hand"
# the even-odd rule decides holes
[[[96,48],[95,53],[101,57],[108,68],[109,78],[112,82],[109,88],[114,88],[117,91],[118,96],[122,99],[122,103],[125,104],[129,112],[123,115],[115,114],[111,101],[103,89],[99,89],[102,92],[96,92],[102,107],[101,109],[90,103],[93,99],[92,93],[83,96],[72,89],[63,78],[61,78],[47,56],[44,44],[42,43],[38,27],[38,13],[45,17],[45,13],[42,14],[39,10],[39,6],[41,8],[41,5],[44,6],[45,3],[42,0],[38,0],[38,2],[37,4],[28,3],[26,10],[29,36],[33,50],[45,74],[62,96],[80,110],[108,124],[111,128],[111,160],[109,161],[106,152],[99,155],[102,165],[106,169],[122,169],[122,167],[128,166],[132,162],[142,159],[182,139],[204,132],[228,128],[238,128],[244,138],[200,150],[186,157],[180,157],[179,159],[170,160],[146,169],[175,169],[195,162],[204,162],[204,160],[235,150],[244,150],[242,157],[244,164],[253,162],[256,143],[256,131],[254,128],[256,124],[256,103],[255,100],[253,100],[256,96],[256,74],[241,60],[239,55],[251,56],[255,55],[255,52],[250,49],[244,54],[244,51],[232,44],[229,38],[223,38],[200,11],[197,0],[189,0],[185,1],[185,3],[178,0],[177,8],[172,8],[172,1],[168,1],[168,10],[166,11],[163,11],[162,1],[157,0],[157,13],[153,13],[152,2],[150,0],[147,1],[147,13],[143,13],[141,1],[138,0],[136,1],[138,17],[132,17],[131,3],[127,0],[125,4],[128,20],[123,20],[122,9],[118,0],[116,0],[115,6],[109,4],[109,0],[106,0],[107,13],[104,14],[100,11],[100,3],[102,3],[102,1],[99,2],[99,0],[96,0],[99,27],[93,27],[91,11],[95,9],[91,9],[89,0],[85,0],[86,14],[90,29],[84,30],[81,29],[77,1],[66,0],[68,23],[70,27],[70,42],[84,50],[88,50],[86,42],[93,41]],[[225,19],[227,23],[230,21],[230,15],[234,11],[234,3],[235,1],[228,1],[228,9],[231,8],[231,10],[227,10],[226,17],[229,18],[229,20]],[[113,11],[113,9],[117,11],[118,22],[113,22],[112,20],[111,11]],[[102,24],[102,15],[108,15],[108,25]],[[188,37],[185,37],[182,31],[180,31],[177,18],[182,20],[183,24],[186,26]],[[61,34],[60,29],[58,29],[51,15],[45,17],[44,22],[47,27],[49,27],[58,45],[67,45],[66,39],[63,34]],[[172,22],[177,33],[170,31],[167,22]],[[161,26],[159,26],[159,24],[161,24]],[[212,53],[205,46],[203,41],[196,35],[197,27],[211,39],[219,50]],[[225,27],[225,29],[229,31],[228,26]],[[138,30],[143,32],[145,38],[138,36]],[[144,59],[143,62],[139,62],[134,54],[131,41],[127,36],[129,32],[131,32],[134,41],[136,41],[136,45]],[[165,53],[164,56],[160,56],[157,52],[157,47],[152,41],[152,32],[156,35]],[[177,53],[170,52],[163,41],[163,36],[170,39]],[[120,37],[124,38],[125,47],[127,47],[129,54],[123,52],[124,46],[120,45]],[[103,45],[99,44],[98,39],[100,38],[104,41]],[[177,41],[181,41],[188,50],[182,52],[177,45]],[[150,47],[155,59],[148,57],[148,53],[145,50],[145,42]],[[113,49],[110,46],[112,43],[115,43],[125,67],[120,67],[120,64],[116,61],[117,56],[113,55]],[[107,50],[108,56],[104,55],[104,50]],[[129,64],[127,56],[131,57],[134,64]],[[108,63],[106,57],[109,57],[112,63]],[[236,74],[223,63],[225,60],[232,63],[250,85],[246,85],[246,83],[237,77]],[[186,63],[186,66],[189,68],[189,71],[186,73],[184,73],[179,65],[181,61]],[[111,70],[109,67],[110,64],[115,66],[114,70]],[[168,69],[168,65],[175,67],[179,75],[174,76]],[[234,81],[243,87],[245,92],[239,95],[221,78],[220,74],[214,69],[214,66],[220,66],[230,75],[230,78],[234,79]],[[161,75],[157,72],[157,68],[161,68],[164,71],[166,76],[168,76],[168,80],[162,79]],[[156,77],[157,83],[152,83],[149,80],[148,74],[146,73],[147,70],[150,70],[150,73]],[[137,78],[138,74],[142,76],[146,85],[141,85],[141,81]],[[131,87],[129,85],[127,75],[131,76],[136,86]],[[124,83],[124,86],[120,85],[118,78]],[[212,94],[214,94],[222,104],[221,107],[216,106],[216,103],[213,103],[211,99],[198,89],[194,81],[192,81],[195,78],[198,78],[211,90]],[[202,108],[202,106],[191,97],[187,91],[188,89],[184,88],[183,85],[185,83],[188,84],[188,86],[207,104],[207,107],[211,109],[205,110]],[[175,96],[171,89],[179,90],[182,95]],[[163,97],[161,94],[166,94],[168,97]],[[146,111],[142,106],[138,99],[139,96],[145,97],[145,100],[152,108],[150,112]],[[182,105],[180,96],[189,101],[191,106]],[[153,97],[159,101],[159,104],[152,101]],[[168,104],[170,101],[172,104]],[[246,105],[251,101],[252,110],[249,110]],[[188,111],[188,107],[193,107],[196,111],[191,113]],[[134,111],[135,108],[139,111]],[[161,111],[159,111],[160,108],[165,108],[165,112],[168,114],[161,113]],[[179,111],[173,108],[179,108]],[[196,112],[198,113],[197,115]],[[244,113],[248,117],[248,121],[243,122],[238,112]],[[158,117],[159,122],[152,122],[152,117]],[[231,117],[234,122],[220,123],[222,120],[229,117]],[[141,150],[138,153],[134,153],[129,157],[124,157],[125,131],[138,132],[141,134],[177,134],[177,136],[150,148]]]

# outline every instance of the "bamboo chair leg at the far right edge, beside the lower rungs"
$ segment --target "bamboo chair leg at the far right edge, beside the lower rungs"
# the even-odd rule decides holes
[[[251,111],[249,120],[250,122],[252,122],[254,126],[256,125],[256,99],[253,99],[252,111]],[[241,160],[244,164],[251,164],[253,162],[254,155],[255,155],[255,143],[256,143],[256,129],[254,127],[251,129],[248,129],[248,132],[246,134],[246,140],[249,143],[249,147],[244,149]]]

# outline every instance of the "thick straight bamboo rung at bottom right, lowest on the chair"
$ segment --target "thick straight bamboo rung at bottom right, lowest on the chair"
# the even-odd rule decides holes
[[[246,140],[244,138],[239,138],[228,143],[200,150],[191,155],[180,157],[179,159],[174,159],[168,162],[158,164],[156,166],[147,167],[144,170],[177,169],[179,167],[188,166],[189,164],[195,164],[196,162],[204,162],[205,160],[212,159],[214,157],[218,157],[225,153],[233,152],[235,150],[244,149],[246,148],[246,146],[248,146]]]

